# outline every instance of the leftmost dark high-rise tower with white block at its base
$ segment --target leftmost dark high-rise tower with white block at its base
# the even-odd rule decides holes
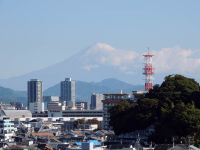
[[[31,79],[28,81],[28,108],[34,112],[43,112],[44,103],[42,99],[42,81]]]

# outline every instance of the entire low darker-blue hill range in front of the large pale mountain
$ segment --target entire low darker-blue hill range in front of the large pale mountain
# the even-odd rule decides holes
[[[90,101],[92,93],[132,93],[134,90],[144,90],[143,85],[131,85],[126,82],[109,78],[101,82],[83,82],[76,81],[76,101]],[[44,96],[60,96],[60,83],[44,90]],[[9,88],[0,87],[0,101],[10,103],[11,101],[19,101],[26,105],[27,92],[15,91]]]

